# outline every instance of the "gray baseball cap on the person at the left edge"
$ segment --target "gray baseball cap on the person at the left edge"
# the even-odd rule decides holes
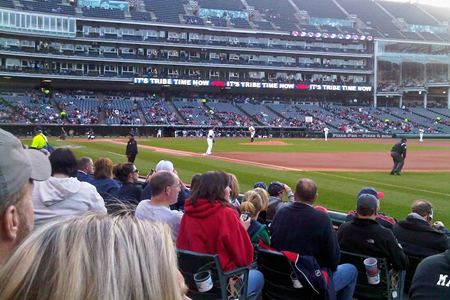
[[[29,179],[47,180],[52,167],[41,151],[24,149],[11,133],[0,129],[0,199],[18,192]]]

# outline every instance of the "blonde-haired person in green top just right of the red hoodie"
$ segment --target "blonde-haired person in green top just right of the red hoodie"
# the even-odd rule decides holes
[[[269,230],[267,225],[262,225],[257,221],[259,213],[263,210],[263,201],[258,192],[251,190],[244,194],[242,204],[240,206],[241,215],[247,213],[251,218],[250,227],[247,233],[252,243],[263,241],[264,244],[270,246]]]

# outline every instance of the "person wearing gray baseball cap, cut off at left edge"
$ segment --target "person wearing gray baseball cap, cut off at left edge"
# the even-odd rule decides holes
[[[47,180],[48,158],[35,149],[24,149],[11,133],[0,129],[0,265],[33,229],[33,180]]]

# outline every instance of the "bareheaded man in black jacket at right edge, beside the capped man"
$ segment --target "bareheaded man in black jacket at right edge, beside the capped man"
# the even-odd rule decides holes
[[[406,219],[394,225],[392,231],[406,254],[427,257],[450,248],[450,231],[442,222],[432,220],[433,205],[417,200]]]

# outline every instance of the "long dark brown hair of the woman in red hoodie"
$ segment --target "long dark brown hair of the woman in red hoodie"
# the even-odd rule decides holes
[[[197,199],[206,199],[211,203],[220,201],[224,206],[229,206],[229,199],[224,198],[223,191],[230,184],[230,176],[224,171],[209,171],[200,176],[195,185],[189,201],[196,206]]]

